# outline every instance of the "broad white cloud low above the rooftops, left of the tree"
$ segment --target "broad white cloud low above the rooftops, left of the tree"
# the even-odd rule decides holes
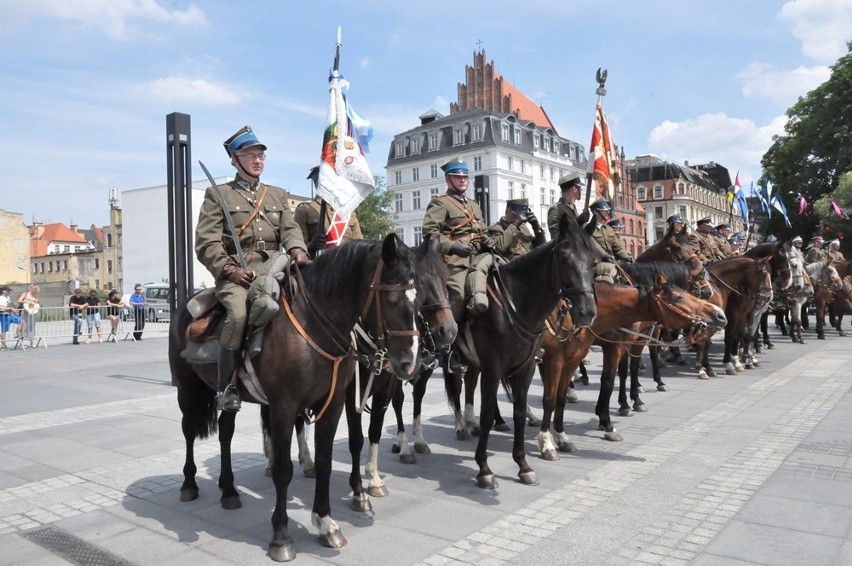
[[[786,116],[779,116],[758,126],[723,112],[682,122],[666,120],[651,131],[648,149],[677,163],[715,161],[741,171],[741,178],[757,179],[761,157],[772,144],[772,136],[783,133],[786,122]]]

